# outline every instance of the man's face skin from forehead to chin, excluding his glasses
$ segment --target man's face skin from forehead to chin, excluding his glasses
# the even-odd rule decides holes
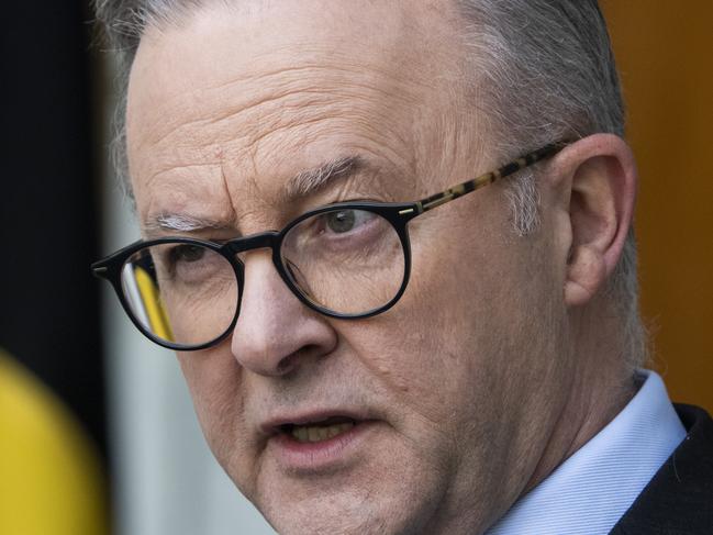
[[[279,230],[503,164],[455,16],[412,0],[244,2],[149,29],[127,116],[147,235]],[[288,191],[350,156],[365,165],[348,178]],[[147,225],[167,214],[211,225]],[[516,237],[499,185],[427,212],[410,224],[405,294],[357,321],[302,305],[269,250],[245,255],[232,337],[179,360],[216,458],[279,532],[477,533],[522,492],[569,374],[548,225]]]

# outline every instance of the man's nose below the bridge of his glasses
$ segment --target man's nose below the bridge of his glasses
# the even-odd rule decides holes
[[[332,325],[285,285],[269,252],[246,255],[241,313],[231,344],[243,367],[282,376],[328,354],[336,342]]]

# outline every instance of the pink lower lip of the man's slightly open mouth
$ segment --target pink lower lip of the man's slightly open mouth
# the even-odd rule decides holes
[[[349,431],[320,442],[299,442],[291,435],[280,433],[270,438],[270,446],[278,462],[290,471],[323,471],[336,468],[353,457],[375,425],[374,421],[359,422]]]

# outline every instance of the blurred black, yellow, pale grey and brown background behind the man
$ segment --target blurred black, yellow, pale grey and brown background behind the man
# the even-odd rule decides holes
[[[605,0],[640,171],[653,364],[713,412],[713,2]],[[172,355],[89,264],[138,237],[108,160],[114,66],[87,2],[10,2],[0,48],[0,533],[268,534]]]

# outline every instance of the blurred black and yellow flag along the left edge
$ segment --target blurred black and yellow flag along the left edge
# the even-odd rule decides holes
[[[107,533],[83,2],[7,2],[0,48],[0,533]]]

